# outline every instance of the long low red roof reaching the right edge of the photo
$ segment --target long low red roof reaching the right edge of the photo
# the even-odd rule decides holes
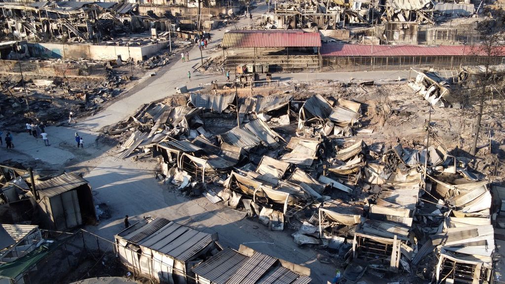
[[[327,43],[321,46],[321,55],[339,56],[473,56],[487,55],[475,45],[365,45]],[[494,49],[494,56],[505,56],[505,48]]]

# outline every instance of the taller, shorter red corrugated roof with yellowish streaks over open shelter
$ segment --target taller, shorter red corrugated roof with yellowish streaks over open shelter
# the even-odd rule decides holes
[[[321,46],[319,32],[302,30],[231,30],[224,34],[223,48],[302,48]]]

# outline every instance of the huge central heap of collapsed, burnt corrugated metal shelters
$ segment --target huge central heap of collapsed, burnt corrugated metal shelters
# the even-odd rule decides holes
[[[348,280],[492,280],[491,184],[436,141],[367,145],[356,135],[379,109],[289,93],[237,108],[234,93],[191,92],[145,105],[109,134],[123,137],[118,157],[155,157],[176,191],[294,228],[296,244],[321,249]]]

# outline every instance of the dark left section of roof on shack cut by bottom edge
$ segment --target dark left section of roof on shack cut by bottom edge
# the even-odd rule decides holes
[[[247,259],[247,256],[226,248],[192,270],[212,283],[224,284]]]

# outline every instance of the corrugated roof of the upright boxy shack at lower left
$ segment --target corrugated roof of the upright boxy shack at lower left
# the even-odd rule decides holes
[[[45,197],[53,197],[71,191],[88,182],[73,173],[65,173],[52,179],[42,181],[35,185],[39,194]]]

